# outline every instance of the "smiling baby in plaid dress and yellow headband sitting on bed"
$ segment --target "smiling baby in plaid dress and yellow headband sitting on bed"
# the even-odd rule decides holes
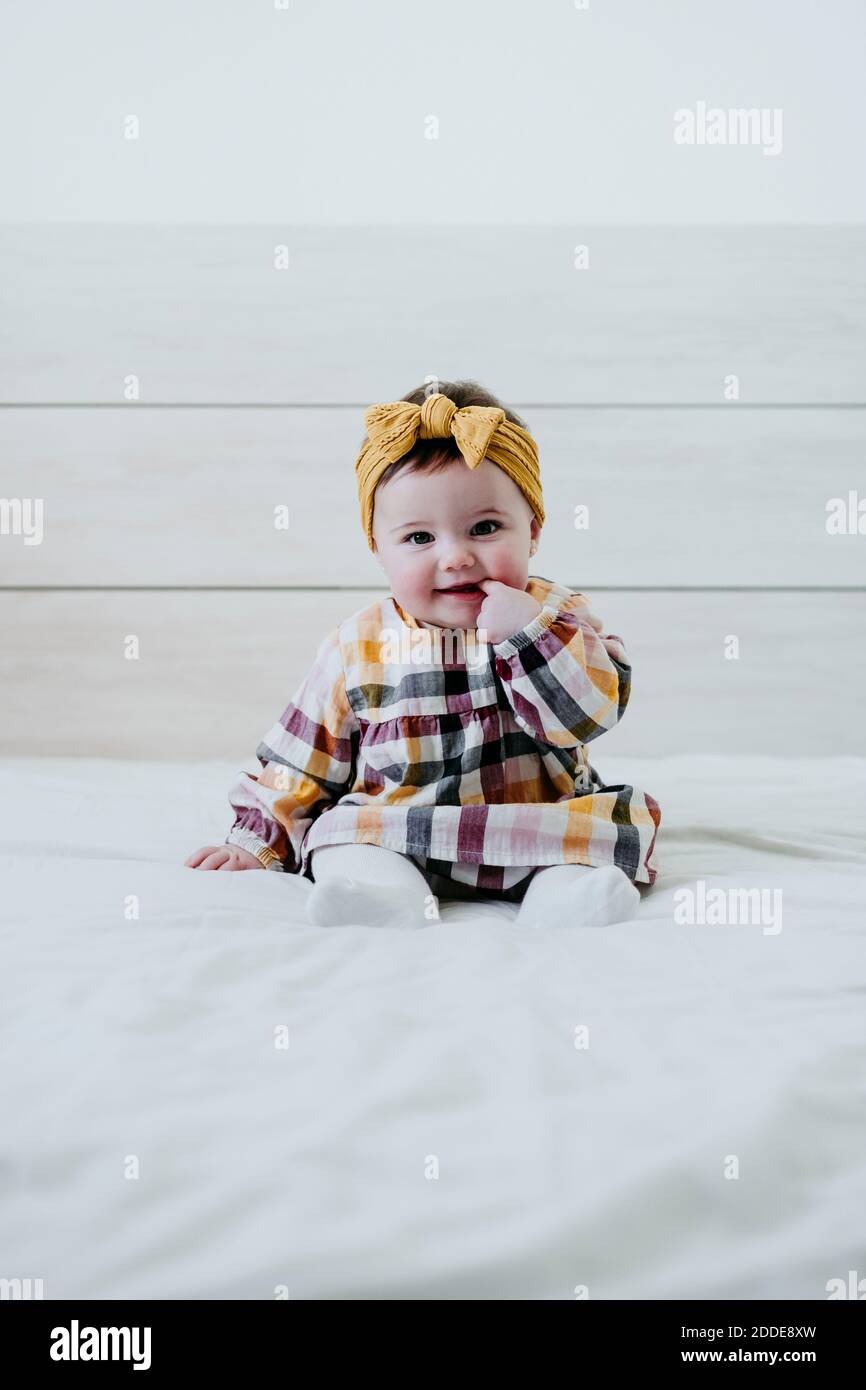
[[[660,812],[605,787],[585,744],[631,689],[582,594],[528,574],[538,449],[477,382],[371,406],[356,463],[388,598],[320,644],[192,869],[313,881],[318,926],[424,926],[438,897],[518,903],[517,926],[605,926],[652,884]]]

